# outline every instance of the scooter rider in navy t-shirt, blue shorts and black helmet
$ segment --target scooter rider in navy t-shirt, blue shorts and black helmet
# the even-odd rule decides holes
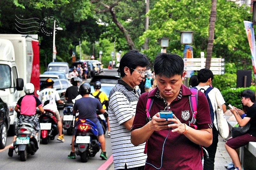
[[[106,160],[107,154],[106,154],[106,148],[105,148],[105,137],[103,135],[102,126],[101,126],[101,124],[97,118],[97,114],[96,114],[97,109],[101,113],[105,113],[106,110],[102,108],[102,105],[98,99],[89,97],[89,94],[91,93],[91,86],[89,83],[82,83],[79,87],[79,93],[82,96],[82,98],[77,99],[75,101],[74,108],[73,108],[73,114],[75,115],[77,110],[79,110],[78,118],[89,119],[96,124],[97,129],[98,129],[98,140],[101,144],[101,150],[102,150],[100,157],[103,160]],[[76,127],[73,132],[72,143],[71,143],[72,144],[71,152],[68,155],[69,159],[75,159],[75,147],[74,147],[75,134],[76,134]]]

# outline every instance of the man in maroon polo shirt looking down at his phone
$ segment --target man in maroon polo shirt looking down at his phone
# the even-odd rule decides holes
[[[176,54],[159,54],[154,61],[157,88],[139,97],[131,133],[132,144],[148,141],[145,169],[203,169],[201,148],[212,143],[209,104],[198,92],[197,129],[189,126],[191,91],[182,84],[184,62]],[[147,96],[153,97],[152,120],[147,121]],[[160,118],[160,110],[172,110],[173,118]],[[173,122],[173,124],[170,124]]]

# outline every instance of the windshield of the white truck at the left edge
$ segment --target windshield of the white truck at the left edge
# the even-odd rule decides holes
[[[0,89],[11,87],[11,68],[8,65],[0,64]]]

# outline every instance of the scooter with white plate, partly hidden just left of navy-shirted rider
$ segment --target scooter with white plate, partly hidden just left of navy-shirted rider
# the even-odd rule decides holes
[[[73,116],[73,104],[67,103],[63,109],[63,129],[68,135],[72,135],[75,128],[75,116]]]

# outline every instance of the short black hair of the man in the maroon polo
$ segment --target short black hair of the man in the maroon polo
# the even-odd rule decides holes
[[[182,75],[184,71],[184,61],[177,54],[160,53],[154,62],[155,74],[162,77],[173,77]]]

